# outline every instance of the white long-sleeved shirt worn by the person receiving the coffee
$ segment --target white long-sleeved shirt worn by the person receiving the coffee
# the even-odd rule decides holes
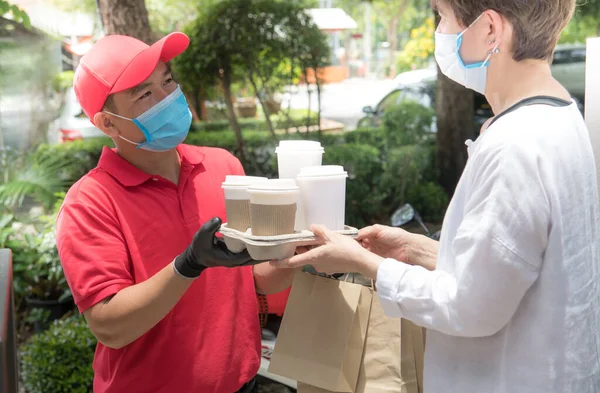
[[[437,268],[386,260],[386,313],[428,329],[425,393],[600,392],[600,209],[575,105],[532,105],[469,147]]]

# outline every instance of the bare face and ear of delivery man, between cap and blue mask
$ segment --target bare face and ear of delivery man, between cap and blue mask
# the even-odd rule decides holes
[[[125,146],[119,135],[133,142],[144,142],[146,140],[144,134],[132,121],[113,116],[106,111],[134,119],[158,104],[176,88],[177,84],[173,80],[171,69],[165,63],[159,62],[152,75],[144,82],[113,94],[112,102],[104,108],[104,112],[96,115],[99,118],[94,118],[96,124],[117,143],[117,146]]]

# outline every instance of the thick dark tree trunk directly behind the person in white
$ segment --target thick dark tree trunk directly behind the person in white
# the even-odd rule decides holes
[[[452,197],[467,163],[465,141],[473,135],[473,92],[438,69],[436,89],[437,166],[439,183]]]

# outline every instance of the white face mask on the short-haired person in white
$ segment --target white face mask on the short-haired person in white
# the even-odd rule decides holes
[[[465,86],[468,89],[475,90],[480,94],[485,94],[487,83],[487,67],[493,54],[498,53],[500,42],[492,49],[484,61],[465,64],[460,56],[460,47],[463,42],[463,35],[471,26],[473,26],[484,14],[479,15],[473,23],[464,31],[458,34],[442,34],[435,32],[435,60],[440,66],[440,70],[454,82]]]

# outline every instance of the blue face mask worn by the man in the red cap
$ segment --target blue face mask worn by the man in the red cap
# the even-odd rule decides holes
[[[146,137],[146,141],[136,143],[119,135],[129,143],[137,145],[138,149],[148,151],[167,151],[181,144],[190,131],[192,112],[181,88],[166,96],[161,102],[148,109],[135,119],[106,112],[118,118],[132,121]]]

